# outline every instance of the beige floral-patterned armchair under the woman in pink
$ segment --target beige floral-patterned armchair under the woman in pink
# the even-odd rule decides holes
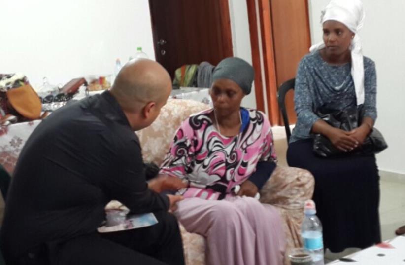
[[[175,131],[191,114],[209,106],[193,100],[169,99],[161,114],[149,127],[137,132],[145,162],[160,165]],[[287,237],[287,250],[302,245],[300,226],[304,218],[304,201],[312,197],[314,179],[303,169],[277,166],[261,190],[261,201],[275,206],[281,215]],[[187,265],[205,264],[205,239],[187,232],[180,225]],[[287,263],[287,261],[286,261]]]

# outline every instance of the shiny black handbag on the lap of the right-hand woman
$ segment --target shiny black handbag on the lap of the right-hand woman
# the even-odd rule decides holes
[[[359,105],[342,111],[321,108],[316,114],[335,128],[351,131],[362,124],[363,113],[363,105]],[[322,134],[314,134],[313,138],[313,151],[315,154],[323,157],[338,156],[347,153],[376,154],[388,147],[381,132],[375,127],[366,137],[363,145],[350,152],[343,152],[337,149],[332,142]]]

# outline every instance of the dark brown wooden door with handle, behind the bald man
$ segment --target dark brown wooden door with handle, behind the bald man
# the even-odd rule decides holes
[[[228,0],[149,0],[149,7],[156,61],[171,77],[184,64],[233,55]]]

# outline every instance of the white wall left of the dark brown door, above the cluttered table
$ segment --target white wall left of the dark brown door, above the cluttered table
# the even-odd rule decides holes
[[[1,0],[0,73],[35,86],[112,74],[141,46],[154,59],[148,0]]]

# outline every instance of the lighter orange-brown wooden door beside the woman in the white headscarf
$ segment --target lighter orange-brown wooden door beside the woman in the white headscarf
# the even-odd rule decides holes
[[[307,0],[270,0],[277,87],[294,78],[311,45]],[[286,95],[288,121],[295,124],[294,92]],[[279,114],[281,117],[281,113]],[[279,119],[280,124],[282,118]]]

